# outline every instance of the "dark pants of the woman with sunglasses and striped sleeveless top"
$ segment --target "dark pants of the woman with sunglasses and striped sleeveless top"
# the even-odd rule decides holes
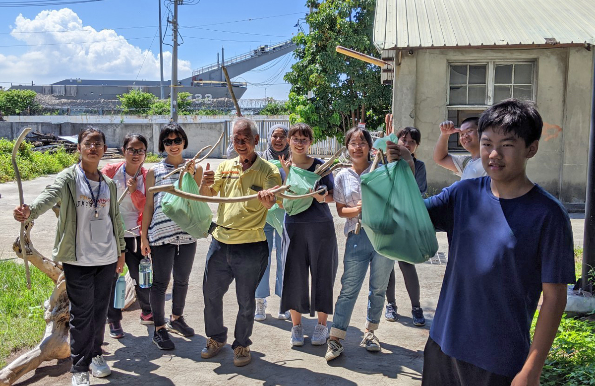
[[[165,291],[174,276],[171,290],[171,313],[182,315],[186,305],[188,279],[196,253],[196,241],[190,244],[151,245],[153,257],[153,285],[149,299],[155,326],[165,325]]]

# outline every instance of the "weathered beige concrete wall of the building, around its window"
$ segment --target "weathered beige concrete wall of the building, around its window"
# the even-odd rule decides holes
[[[447,118],[449,62],[488,60],[536,61],[536,103],[544,130],[528,176],[565,203],[584,203],[593,84],[593,52],[584,48],[404,51],[395,70],[394,126],[413,124],[421,130],[417,155],[426,164],[428,185],[441,189],[458,180],[432,159],[438,126]]]

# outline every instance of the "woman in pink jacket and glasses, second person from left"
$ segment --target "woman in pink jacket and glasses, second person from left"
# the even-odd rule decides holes
[[[140,253],[140,223],[142,222],[143,209],[145,208],[145,180],[147,169],[143,167],[147,150],[147,140],[140,134],[128,134],[124,137],[122,152],[124,162],[107,164],[101,169],[104,175],[114,180],[118,188],[118,197],[128,189],[127,194],[120,203],[120,214],[124,221],[126,231],[124,239],[126,240],[126,265],[130,277],[134,279],[136,285],[134,291],[140,304],[140,323],[153,324],[153,314],[151,313],[151,304],[149,304],[150,288],[142,288],[139,285],[139,264],[143,259]],[[140,173],[135,179],[137,171]],[[116,278],[117,279],[117,278]],[[122,329],[122,310],[114,307],[114,291],[112,291],[111,300],[108,309],[109,336],[112,338],[123,338]]]

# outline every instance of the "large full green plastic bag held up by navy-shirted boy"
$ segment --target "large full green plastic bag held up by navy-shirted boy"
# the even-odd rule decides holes
[[[374,250],[423,263],[436,254],[436,231],[409,165],[397,161],[362,175],[362,227]]]

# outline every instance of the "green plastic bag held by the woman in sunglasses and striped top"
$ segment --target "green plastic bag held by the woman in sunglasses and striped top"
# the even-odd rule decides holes
[[[178,184],[179,180],[175,185],[178,186]],[[201,194],[190,173],[184,173],[182,176],[181,190],[186,193]],[[161,209],[165,216],[175,222],[182,231],[196,238],[206,238],[213,219],[208,204],[165,193],[161,199]]]

